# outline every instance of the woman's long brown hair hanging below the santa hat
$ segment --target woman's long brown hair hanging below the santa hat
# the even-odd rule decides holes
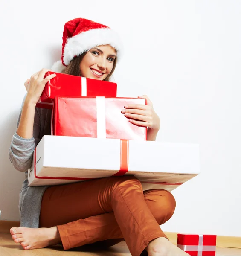
[[[84,56],[86,55],[86,53],[87,52],[83,52],[81,55],[78,55],[75,58],[73,58],[73,60],[70,61],[70,64],[67,66],[67,68],[62,73],[67,74],[67,75],[73,75],[73,76],[82,76],[81,72],[80,72],[79,65],[80,65],[82,59],[84,58]],[[116,61],[117,61],[117,56],[113,61],[113,68],[112,68],[110,74],[105,79],[103,79],[103,81],[110,81],[110,77],[116,68]]]

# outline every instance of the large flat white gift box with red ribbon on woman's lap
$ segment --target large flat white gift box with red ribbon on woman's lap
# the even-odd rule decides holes
[[[29,186],[134,175],[143,190],[173,190],[200,172],[199,145],[45,135],[35,148]]]

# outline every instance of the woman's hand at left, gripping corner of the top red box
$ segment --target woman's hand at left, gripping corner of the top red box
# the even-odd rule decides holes
[[[24,86],[27,90],[26,100],[29,103],[37,104],[38,100],[44,90],[45,84],[50,79],[52,79],[56,76],[56,74],[52,74],[52,75],[46,76],[46,78],[44,79],[44,75],[48,71],[51,71],[51,70],[43,68],[42,70],[33,74],[30,77],[30,79],[27,79],[27,81],[24,83]]]

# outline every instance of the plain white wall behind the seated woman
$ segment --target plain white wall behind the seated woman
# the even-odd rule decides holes
[[[18,220],[23,173],[8,158],[24,81],[60,58],[64,23],[85,17],[116,29],[125,56],[119,96],[146,93],[161,119],[157,140],[199,143],[202,173],[173,194],[164,231],[241,236],[241,2],[1,1],[0,210]]]

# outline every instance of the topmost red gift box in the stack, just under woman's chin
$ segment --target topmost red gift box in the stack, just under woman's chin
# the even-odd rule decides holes
[[[46,72],[44,78],[55,72]],[[117,84],[113,82],[55,73],[48,81],[36,105],[37,108],[52,108],[55,96],[105,96],[116,97]]]

